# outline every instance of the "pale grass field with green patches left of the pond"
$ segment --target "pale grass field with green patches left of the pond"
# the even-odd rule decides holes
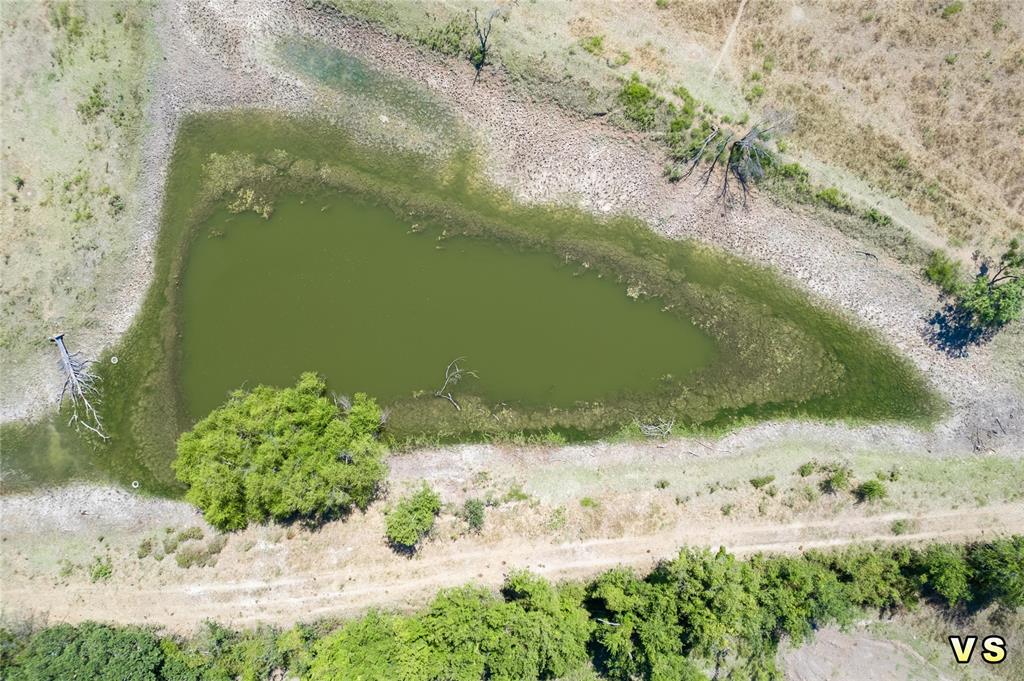
[[[143,209],[135,201],[156,55],[147,3],[0,7],[0,414],[38,412],[55,355],[74,333],[97,354],[134,312],[124,291]],[[134,301],[132,300],[131,303]]]

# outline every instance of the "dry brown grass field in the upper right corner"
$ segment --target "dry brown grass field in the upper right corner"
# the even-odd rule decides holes
[[[801,150],[988,249],[1024,228],[1019,5],[944,4],[752,0],[733,76],[796,113]]]

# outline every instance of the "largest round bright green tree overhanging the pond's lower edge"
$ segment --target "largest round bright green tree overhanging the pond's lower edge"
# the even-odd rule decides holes
[[[220,529],[319,522],[366,508],[386,474],[381,411],[357,393],[344,414],[315,374],[294,388],[237,390],[178,439],[185,498]]]

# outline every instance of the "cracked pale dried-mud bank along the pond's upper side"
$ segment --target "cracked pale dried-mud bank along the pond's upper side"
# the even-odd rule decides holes
[[[121,313],[127,318],[138,310],[152,279],[168,164],[183,117],[247,107],[292,114],[317,111],[316,88],[280,70],[257,47],[272,44],[272,36],[298,33],[340,44],[374,66],[464,104],[460,113],[465,122],[489,141],[487,175],[517,199],[572,201],[598,214],[638,215],[662,235],[695,238],[773,265],[817,302],[876,329],[925,371],[950,403],[951,416],[935,431],[936,450],[1021,450],[1024,402],[996,377],[989,348],[966,359],[934,351],[920,333],[922,317],[934,306],[931,291],[884,255],[878,262],[865,261],[856,255],[855,242],[806,216],[775,207],[765,197],[755,198],[749,212],[722,215],[711,197],[665,182],[658,153],[641,140],[551,104],[523,101],[497,72],[485,73],[473,86],[468,63],[424,54],[365,25],[306,10],[301,2],[217,9],[166,3],[157,7],[156,22],[166,59],[158,65],[147,114],[140,187],[146,211],[139,218],[146,229],[138,259],[126,264],[130,274]],[[39,411],[48,408],[28,401]],[[980,442],[979,432],[984,433]]]

